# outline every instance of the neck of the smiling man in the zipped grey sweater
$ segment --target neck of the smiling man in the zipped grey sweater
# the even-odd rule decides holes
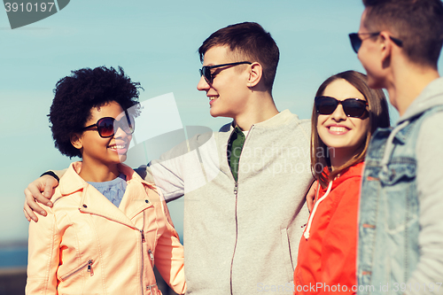
[[[250,97],[245,110],[235,116],[234,122],[240,129],[246,131],[254,124],[271,119],[278,113],[272,96],[268,92],[256,91]]]

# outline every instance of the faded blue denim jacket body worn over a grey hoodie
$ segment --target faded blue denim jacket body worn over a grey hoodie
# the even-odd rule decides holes
[[[416,143],[424,120],[440,111],[443,105],[431,105],[372,137],[361,187],[358,294],[424,291],[408,285],[421,251]]]

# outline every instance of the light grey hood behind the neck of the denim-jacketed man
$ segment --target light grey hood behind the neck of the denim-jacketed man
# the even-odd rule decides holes
[[[443,77],[435,79],[420,93],[418,97],[409,105],[406,112],[400,117],[397,125],[400,125],[405,120],[424,113],[435,105],[443,105]]]

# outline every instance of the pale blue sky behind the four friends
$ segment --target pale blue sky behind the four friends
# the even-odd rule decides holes
[[[142,83],[142,101],[172,93],[183,126],[217,129],[229,120],[212,118],[205,93],[196,89],[198,47],[221,27],[256,21],[280,48],[277,108],[309,119],[315,91],[327,77],[348,69],[364,73],[347,36],[358,30],[362,11],[356,0],[73,0],[51,17],[14,30],[0,12],[0,242],[27,238],[27,183],[71,162],[54,148],[46,117],[55,83],[71,70],[122,66]],[[129,164],[145,164],[145,157]],[[180,202],[170,205],[179,231]]]

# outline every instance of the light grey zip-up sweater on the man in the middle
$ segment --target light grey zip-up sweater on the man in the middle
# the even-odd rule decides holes
[[[194,136],[147,169],[167,200],[185,196],[187,293],[291,294],[313,182],[310,120],[286,110],[253,125],[238,182],[227,159],[232,130]]]

